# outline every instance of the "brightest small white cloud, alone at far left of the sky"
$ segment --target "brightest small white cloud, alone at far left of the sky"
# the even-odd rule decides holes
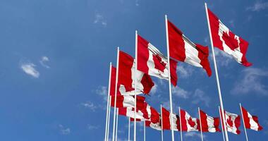
[[[21,63],[20,68],[28,75],[34,78],[39,78],[39,72],[35,69],[34,63]]]

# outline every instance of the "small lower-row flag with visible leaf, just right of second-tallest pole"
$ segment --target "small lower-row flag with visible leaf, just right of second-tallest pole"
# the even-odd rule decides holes
[[[197,118],[193,118],[187,111],[181,109],[181,128],[183,131],[199,131],[200,121]]]

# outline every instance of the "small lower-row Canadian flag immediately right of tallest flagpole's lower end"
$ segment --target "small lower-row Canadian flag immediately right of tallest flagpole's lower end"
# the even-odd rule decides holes
[[[224,113],[227,131],[234,134],[240,134],[240,116],[237,114],[231,114],[228,111],[224,111]]]

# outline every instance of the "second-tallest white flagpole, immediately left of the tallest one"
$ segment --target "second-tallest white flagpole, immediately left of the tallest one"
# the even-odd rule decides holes
[[[167,16],[166,15],[165,15],[165,22],[166,22],[166,50],[167,50],[167,59],[168,59],[168,63],[169,63],[169,31],[168,31],[168,24],[167,24]],[[170,104],[171,114],[173,114],[170,63],[169,63],[169,104]],[[174,141],[173,118],[171,118],[171,137],[172,137],[172,141]]]

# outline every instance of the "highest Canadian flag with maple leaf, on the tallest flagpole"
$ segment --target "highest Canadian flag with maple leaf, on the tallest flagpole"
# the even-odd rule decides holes
[[[238,37],[238,35],[233,34],[209,8],[207,8],[207,11],[214,47],[233,56],[233,59],[236,59],[238,63],[242,63],[243,66],[251,66],[252,63],[248,62],[245,58],[248,50],[248,42]]]

